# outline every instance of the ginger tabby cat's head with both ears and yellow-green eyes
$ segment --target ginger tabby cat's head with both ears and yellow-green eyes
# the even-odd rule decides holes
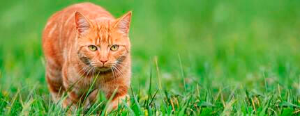
[[[76,12],[77,53],[80,60],[100,72],[116,68],[129,56],[130,20],[131,12],[119,19],[93,21]]]

